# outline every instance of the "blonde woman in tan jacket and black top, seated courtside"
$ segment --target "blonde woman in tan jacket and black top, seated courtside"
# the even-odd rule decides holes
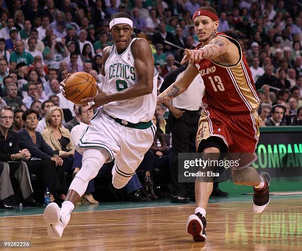
[[[51,107],[45,116],[46,127],[42,136],[46,143],[64,160],[64,170],[72,175],[75,156],[75,145],[68,129],[62,128],[64,119],[63,111],[57,106]],[[63,189],[68,189],[68,184],[63,181]]]

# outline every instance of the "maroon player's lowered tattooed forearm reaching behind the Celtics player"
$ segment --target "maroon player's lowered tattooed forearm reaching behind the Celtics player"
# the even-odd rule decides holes
[[[197,68],[190,64],[186,69],[185,74],[182,75],[182,77],[179,80],[175,81],[167,89],[165,89],[165,91],[163,91],[162,93],[160,93],[159,96],[157,96],[157,102],[162,103],[182,94],[184,91],[188,89],[189,85],[195,79],[197,74],[198,74]]]

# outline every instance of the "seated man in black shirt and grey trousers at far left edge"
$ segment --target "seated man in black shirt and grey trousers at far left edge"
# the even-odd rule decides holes
[[[25,162],[20,161],[29,160],[31,154],[26,148],[20,150],[18,135],[10,129],[13,124],[13,119],[14,113],[9,106],[3,107],[0,110],[0,161],[2,163],[4,162],[4,173],[2,172],[0,177],[1,206],[6,209],[11,207],[5,207],[5,205],[12,206],[3,200],[7,200],[8,197],[14,194],[10,182],[10,176],[14,176],[19,183],[25,203],[32,207],[39,207],[42,205],[32,197],[33,189],[29,177],[28,166]]]

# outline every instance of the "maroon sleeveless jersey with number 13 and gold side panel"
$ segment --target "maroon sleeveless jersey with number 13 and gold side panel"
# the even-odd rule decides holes
[[[226,37],[239,50],[240,59],[235,65],[225,66],[211,59],[203,58],[196,67],[205,85],[202,101],[224,113],[249,114],[259,106],[259,98],[250,68],[242,54],[239,42],[224,33],[215,37]],[[196,47],[201,48],[202,43]]]

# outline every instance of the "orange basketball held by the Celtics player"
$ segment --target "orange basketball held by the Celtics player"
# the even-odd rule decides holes
[[[96,80],[86,72],[76,72],[65,82],[66,98],[81,105],[81,100],[97,94]]]

